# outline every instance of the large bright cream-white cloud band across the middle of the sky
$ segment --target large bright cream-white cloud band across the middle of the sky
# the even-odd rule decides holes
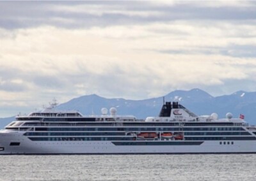
[[[251,25],[247,30],[254,28]],[[3,30],[1,32],[6,34]],[[182,36],[180,32],[186,35]],[[226,38],[223,25],[216,24],[207,29],[183,21],[172,25],[76,30],[44,26],[9,31],[9,34],[3,38],[0,61],[4,68],[17,69],[20,76],[13,77],[13,80],[28,85],[31,92],[42,89],[42,86],[44,92],[68,92],[79,85],[73,96],[88,92],[102,96],[141,98],[143,95],[143,98],[148,98],[160,96],[175,87],[223,85],[226,79],[248,78],[250,69],[245,72],[233,65],[249,62],[255,65],[253,59],[218,54],[221,48],[239,44],[243,38]],[[255,42],[250,38],[243,43],[251,45]],[[216,52],[209,56],[200,51],[204,47],[214,47]],[[175,50],[180,54],[173,54]],[[113,85],[113,82],[122,85]],[[145,88],[154,94],[146,92]]]

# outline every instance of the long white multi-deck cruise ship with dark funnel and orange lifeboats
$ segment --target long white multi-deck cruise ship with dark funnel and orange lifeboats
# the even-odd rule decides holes
[[[0,154],[256,153],[256,127],[227,113],[197,116],[178,102],[138,120],[102,108],[102,115],[56,110],[18,115],[0,131]]]

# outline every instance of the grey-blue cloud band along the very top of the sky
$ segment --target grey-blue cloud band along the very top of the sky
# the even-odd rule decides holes
[[[255,2],[251,2],[255,4]],[[102,15],[87,13],[86,8],[82,12],[56,11],[54,7],[79,5],[95,5],[106,10]],[[79,28],[92,26],[106,26],[119,24],[141,24],[148,22],[166,22],[172,20],[255,20],[255,6],[252,7],[209,7],[198,6],[198,2],[184,2],[173,6],[154,6],[148,2],[127,1],[22,1],[22,2],[0,2],[0,27],[5,29],[16,29],[20,27],[35,27],[39,25],[54,25],[65,28]],[[86,6],[85,6],[86,7]],[[89,8],[89,7],[88,7]],[[109,11],[108,11],[109,10]],[[140,15],[125,15],[124,13],[111,12],[120,11],[145,11],[148,17]],[[150,15],[151,11],[163,13],[161,16]],[[72,20],[70,22],[58,21],[58,18]]]

